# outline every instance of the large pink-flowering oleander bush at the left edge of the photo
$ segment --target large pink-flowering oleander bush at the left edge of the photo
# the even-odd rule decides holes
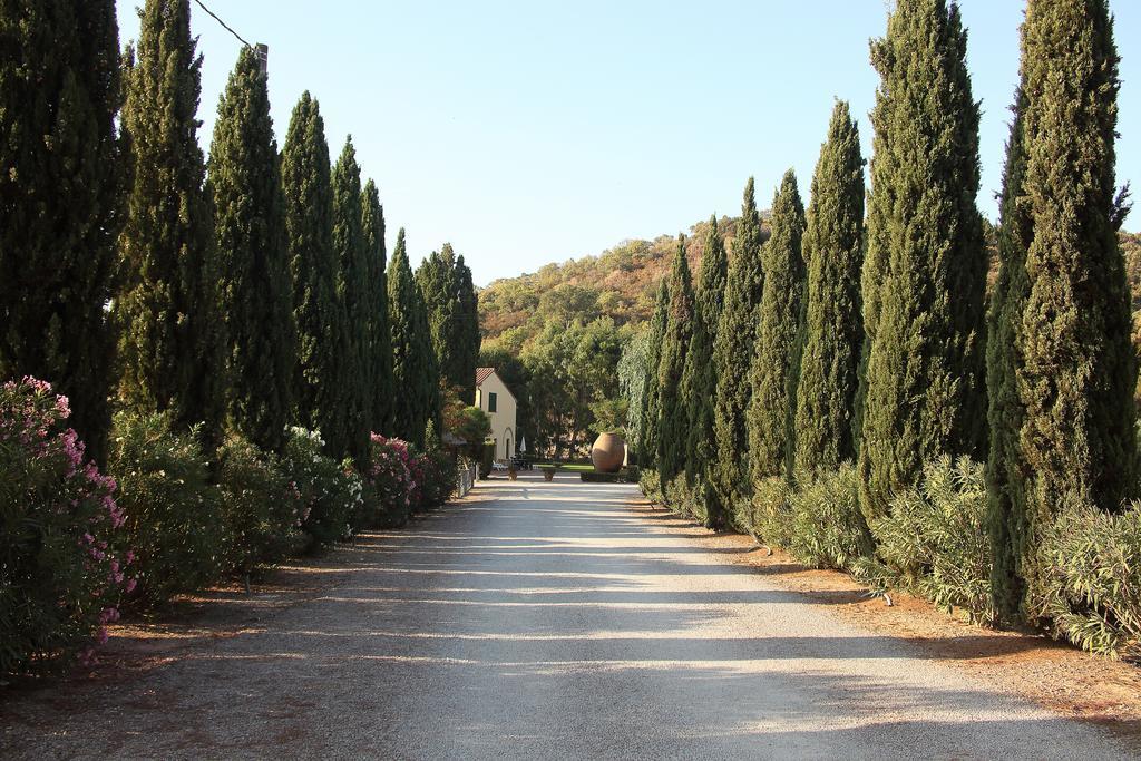
[[[0,673],[88,664],[133,590],[115,481],[67,428],[67,398],[0,386]]]

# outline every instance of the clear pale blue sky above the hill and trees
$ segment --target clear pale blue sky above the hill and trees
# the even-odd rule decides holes
[[[377,180],[389,250],[451,241],[477,284],[769,205],[788,167],[808,188],[834,98],[871,152],[868,40],[887,0],[204,0],[269,46],[278,147],[308,89],[335,156],[353,135]],[[122,40],[143,0],[118,0]],[[994,218],[1021,0],[962,0],[982,102],[979,205]],[[1111,0],[1122,62],[1118,183],[1141,195],[1141,2]],[[209,148],[241,43],[192,2]],[[1141,203],[1126,222],[1141,229]]]

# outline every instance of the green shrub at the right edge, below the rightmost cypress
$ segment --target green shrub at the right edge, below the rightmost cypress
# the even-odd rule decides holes
[[[1141,659],[1141,503],[1118,515],[1068,504],[1041,552],[1049,570],[1031,614],[1084,650]]]

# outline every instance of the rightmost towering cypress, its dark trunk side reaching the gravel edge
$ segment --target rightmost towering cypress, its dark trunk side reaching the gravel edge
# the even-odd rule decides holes
[[[990,313],[994,589],[1042,615],[1043,533],[1071,501],[1119,510],[1136,473],[1136,361],[1115,197],[1118,56],[1106,0],[1031,0]]]

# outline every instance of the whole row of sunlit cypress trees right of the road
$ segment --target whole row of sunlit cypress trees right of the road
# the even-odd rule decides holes
[[[954,2],[899,0],[872,43],[866,216],[840,102],[807,213],[788,172],[763,241],[750,179],[733,256],[714,222],[696,292],[679,245],[648,327],[657,382],[636,443],[662,487],[685,477],[714,527],[759,480],[810,481],[845,461],[874,524],[924,463],[985,460],[1006,621],[1036,616],[1037,548],[1062,505],[1119,511],[1138,488],[1108,2],[1030,0],[1021,48],[989,294],[966,31]]]

